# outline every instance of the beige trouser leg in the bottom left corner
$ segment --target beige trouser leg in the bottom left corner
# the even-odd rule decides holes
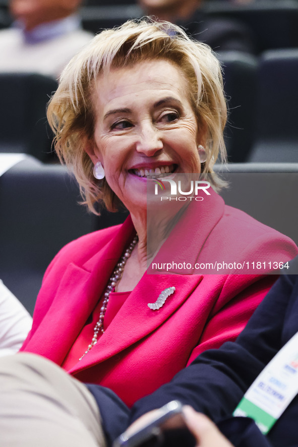
[[[88,389],[43,357],[0,359],[1,447],[105,447]]]

